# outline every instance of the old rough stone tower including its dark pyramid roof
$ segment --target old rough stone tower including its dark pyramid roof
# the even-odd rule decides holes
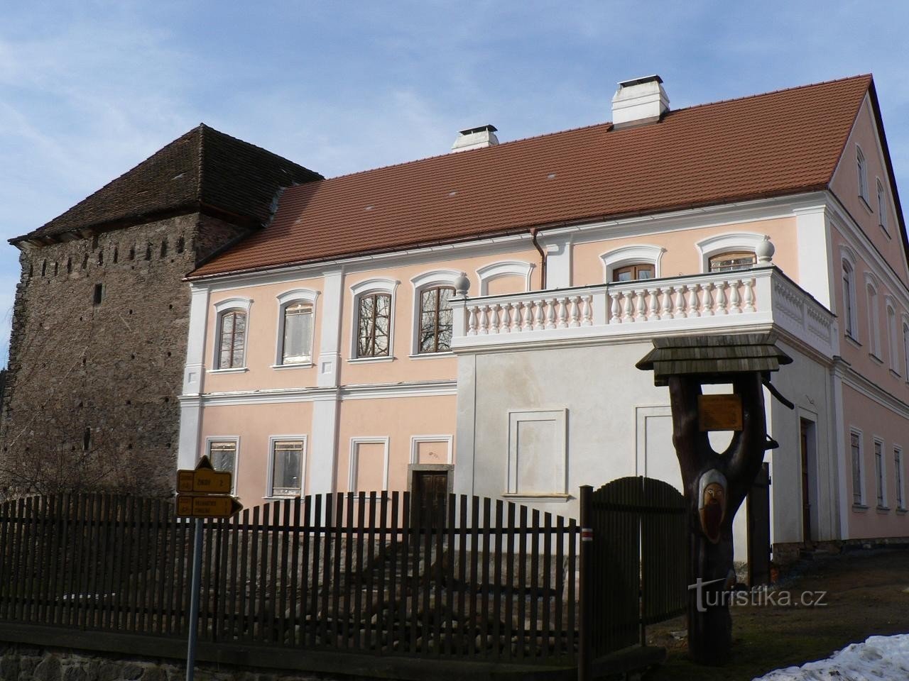
[[[21,252],[0,412],[0,498],[173,487],[189,290],[321,175],[199,125],[34,232]]]

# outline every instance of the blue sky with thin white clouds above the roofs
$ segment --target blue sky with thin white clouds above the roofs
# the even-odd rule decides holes
[[[909,202],[909,3],[13,2],[0,22],[0,365],[19,268],[5,240],[197,123],[326,176],[608,120],[658,73],[672,106],[872,72]],[[768,121],[768,124],[772,124]]]

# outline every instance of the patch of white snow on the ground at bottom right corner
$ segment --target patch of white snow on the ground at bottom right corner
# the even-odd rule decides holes
[[[754,681],[906,681],[909,634],[869,637],[833,656],[803,666],[776,669]]]

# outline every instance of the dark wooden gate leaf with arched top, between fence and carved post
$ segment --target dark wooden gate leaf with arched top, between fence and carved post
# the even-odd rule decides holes
[[[644,644],[644,627],[685,611],[687,507],[672,485],[613,480],[591,496],[591,652]]]

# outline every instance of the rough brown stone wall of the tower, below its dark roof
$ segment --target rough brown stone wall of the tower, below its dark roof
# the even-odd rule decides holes
[[[237,233],[193,213],[22,253],[0,497],[172,489],[189,322],[183,278]]]

